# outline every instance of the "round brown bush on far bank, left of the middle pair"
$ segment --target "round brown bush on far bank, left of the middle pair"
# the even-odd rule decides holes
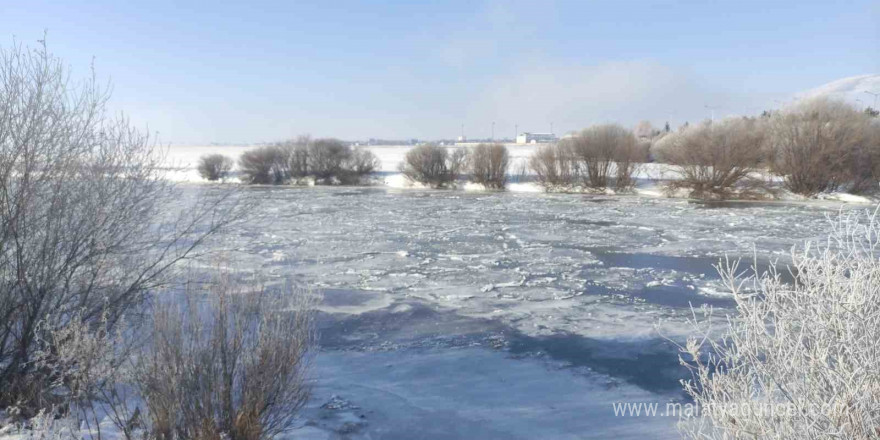
[[[442,188],[458,180],[466,159],[464,149],[456,149],[450,154],[438,145],[419,145],[406,153],[400,171],[411,181]]]

